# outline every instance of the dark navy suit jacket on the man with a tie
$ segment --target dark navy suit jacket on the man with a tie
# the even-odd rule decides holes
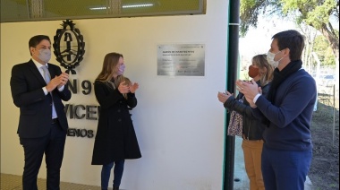
[[[57,65],[48,64],[51,79],[62,73]],[[11,91],[13,102],[20,108],[18,134],[21,138],[37,138],[47,135],[52,122],[52,97],[45,95],[42,88],[47,86],[37,66],[32,60],[27,63],[14,65],[11,76]],[[68,128],[62,100],[71,99],[71,91],[64,86],[64,91],[55,88],[52,91],[55,111],[63,130]]]

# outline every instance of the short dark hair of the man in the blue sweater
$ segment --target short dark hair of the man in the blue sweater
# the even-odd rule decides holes
[[[300,60],[304,48],[304,37],[297,30],[285,30],[276,33],[272,39],[277,40],[279,50],[289,48],[292,61]]]

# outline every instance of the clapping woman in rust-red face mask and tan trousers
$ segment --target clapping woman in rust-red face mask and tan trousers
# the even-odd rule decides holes
[[[248,75],[258,83],[262,95],[267,97],[274,68],[268,64],[266,55],[252,57]],[[262,133],[266,127],[262,121],[251,115],[251,106],[240,92],[236,98],[229,91],[218,92],[218,100],[225,108],[242,115],[242,150],[244,165],[250,180],[250,190],[265,189],[261,172]],[[240,101],[241,100],[241,101]]]

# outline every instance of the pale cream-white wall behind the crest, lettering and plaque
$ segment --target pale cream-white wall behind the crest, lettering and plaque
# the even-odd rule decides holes
[[[227,1],[214,0],[202,15],[73,20],[86,53],[72,79],[93,82],[106,53],[115,51],[124,56],[124,74],[140,83],[132,119],[142,158],[125,162],[123,189],[222,188],[225,109],[217,91],[225,90],[227,7]],[[21,175],[23,169],[11,69],[30,59],[30,37],[46,34],[53,39],[61,23],[1,23],[1,173]],[[158,76],[157,45],[185,43],[206,45],[205,76]],[[59,65],[55,56],[51,62]],[[94,92],[72,94],[67,103],[98,105]],[[72,128],[94,131],[97,122],[69,119]],[[100,186],[101,167],[90,165],[93,142],[94,138],[67,137],[62,181]],[[45,163],[38,177],[46,178]]]

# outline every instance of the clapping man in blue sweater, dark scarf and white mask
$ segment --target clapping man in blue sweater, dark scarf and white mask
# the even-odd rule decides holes
[[[272,38],[268,63],[276,67],[268,99],[256,82],[236,82],[254,115],[267,123],[263,133],[262,175],[268,190],[300,190],[310,169],[310,121],[317,98],[314,79],[302,69],[304,38],[285,30]]]

